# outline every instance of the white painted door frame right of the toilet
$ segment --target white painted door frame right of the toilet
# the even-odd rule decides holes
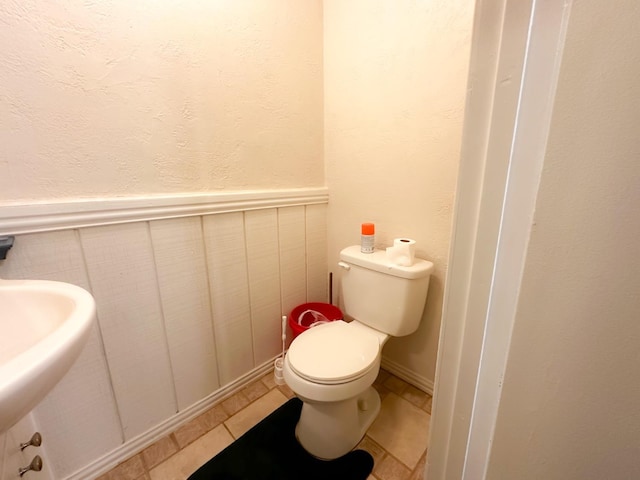
[[[485,477],[571,0],[478,0],[425,478]]]

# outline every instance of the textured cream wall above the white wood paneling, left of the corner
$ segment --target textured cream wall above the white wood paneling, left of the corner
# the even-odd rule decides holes
[[[324,184],[320,0],[24,0],[0,19],[0,202]]]

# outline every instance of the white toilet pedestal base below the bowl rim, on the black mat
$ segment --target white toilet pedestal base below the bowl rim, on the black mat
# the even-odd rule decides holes
[[[369,387],[339,402],[304,401],[296,438],[311,455],[332,460],[350,452],[380,412],[380,395]]]

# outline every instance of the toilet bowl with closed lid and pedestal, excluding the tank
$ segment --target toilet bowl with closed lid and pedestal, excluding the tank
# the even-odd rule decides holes
[[[303,401],[296,437],[312,455],[333,459],[353,449],[380,411],[371,386],[387,335],[342,320],[314,327],[291,344],[284,377]]]

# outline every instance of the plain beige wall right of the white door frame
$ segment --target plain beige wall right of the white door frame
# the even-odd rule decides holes
[[[489,479],[640,476],[640,9],[573,2]]]

